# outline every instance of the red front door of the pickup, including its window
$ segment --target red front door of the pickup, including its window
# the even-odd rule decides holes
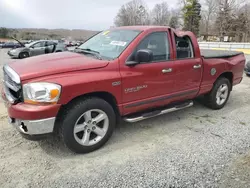
[[[169,95],[175,88],[175,72],[172,70],[169,41],[167,31],[150,33],[142,39],[128,61],[134,61],[134,54],[142,49],[153,52],[153,61],[135,66],[122,63],[120,71],[125,114],[170,102]]]

